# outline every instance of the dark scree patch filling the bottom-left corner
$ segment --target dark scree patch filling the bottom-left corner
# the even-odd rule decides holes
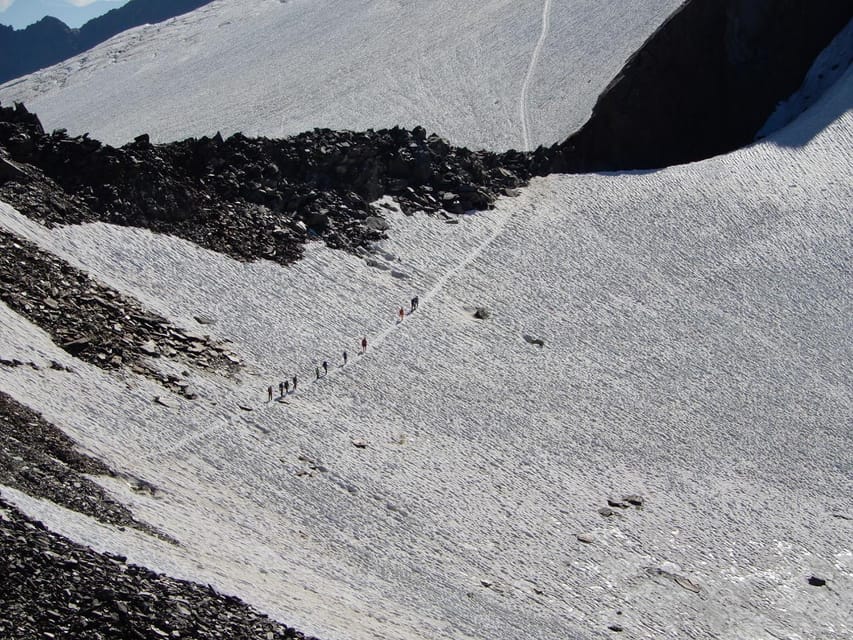
[[[0,498],[0,637],[315,640],[202,586],[99,554]]]

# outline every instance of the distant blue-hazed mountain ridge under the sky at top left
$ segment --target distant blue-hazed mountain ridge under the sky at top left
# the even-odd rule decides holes
[[[123,7],[90,20],[80,29],[71,29],[50,16],[21,30],[0,25],[0,82],[61,62],[132,27],[161,22],[209,2],[131,0]]]

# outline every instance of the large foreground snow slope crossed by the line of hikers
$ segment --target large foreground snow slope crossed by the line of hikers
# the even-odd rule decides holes
[[[178,324],[216,318],[252,363],[239,384],[193,372],[200,399],[169,409],[0,306],[2,355],[76,370],[0,368],[0,388],[157,485],[108,481],[181,546],[3,495],[329,640],[849,638],[851,96],[848,71],[705,162],[552,176],[458,225],[394,214],[388,269],[319,243],[291,268],[241,264],[0,205]],[[628,493],[644,507],[598,513]]]

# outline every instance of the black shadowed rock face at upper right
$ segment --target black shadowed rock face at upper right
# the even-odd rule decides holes
[[[557,147],[554,169],[660,168],[749,144],[851,16],[839,0],[689,0]]]

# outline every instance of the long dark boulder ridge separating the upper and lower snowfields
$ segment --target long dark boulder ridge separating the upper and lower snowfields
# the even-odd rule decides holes
[[[25,215],[145,227],[241,260],[290,264],[309,237],[368,248],[387,228],[370,204],[383,195],[406,213],[461,214],[493,206],[546,165],[545,150],[470,151],[422,128],[158,145],[141,135],[114,148],[45,133],[23,105],[0,106],[0,199]]]

